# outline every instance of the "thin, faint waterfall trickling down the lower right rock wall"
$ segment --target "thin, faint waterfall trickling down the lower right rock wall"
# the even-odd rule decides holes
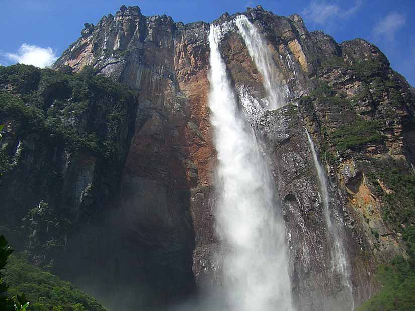
[[[314,166],[317,171],[318,183],[320,186],[320,191],[323,199],[323,208],[324,208],[324,218],[327,225],[328,233],[330,239],[333,243],[331,248],[331,269],[336,271],[342,278],[342,285],[347,289],[349,294],[349,301],[351,304],[351,310],[354,309],[354,299],[353,299],[353,288],[352,282],[350,280],[350,271],[349,263],[346,256],[346,251],[341,242],[339,232],[336,226],[331,221],[331,212],[330,212],[330,195],[328,193],[327,187],[327,178],[325,176],[324,170],[321,167],[320,162],[318,161],[317,152],[315,151],[313,140],[311,139],[310,133],[306,130],[308,142],[310,143],[311,152],[313,154]]]

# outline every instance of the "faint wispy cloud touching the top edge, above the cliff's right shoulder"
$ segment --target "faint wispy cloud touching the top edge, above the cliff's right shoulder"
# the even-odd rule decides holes
[[[349,9],[342,9],[338,4],[311,1],[310,5],[302,12],[306,19],[315,24],[325,24],[336,18],[346,19],[355,14],[361,7],[363,0],[356,0],[355,5]]]

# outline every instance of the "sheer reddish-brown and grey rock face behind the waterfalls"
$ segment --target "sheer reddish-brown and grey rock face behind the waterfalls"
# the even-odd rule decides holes
[[[382,199],[373,190],[365,163],[393,158],[409,168],[415,157],[414,97],[386,57],[364,40],[337,44],[322,32],[308,32],[298,15],[281,17],[262,8],[244,14],[268,44],[285,100],[299,106],[265,113],[254,109],[247,116],[269,154],[282,201],[295,305],[299,310],[334,309],[344,299],[339,275],[330,270],[321,194],[305,128],[326,168],[331,208],[342,228],[359,304],[376,292],[371,278],[376,264],[402,253],[399,233],[382,217]],[[243,96],[262,102],[267,94],[234,18],[224,14],[214,23],[221,25],[222,57],[244,109]],[[208,32],[207,23],[184,25],[165,15],[145,17],[138,7],[122,7],[97,26],[86,24],[82,37],[55,64],[74,71],[92,66],[140,92],[120,209],[129,215],[125,230],[135,237],[131,247],[145,254],[137,265],[166,267],[156,273],[154,284],[171,285],[158,295],[183,297],[194,289],[193,278],[199,288],[214,288],[220,279]],[[312,95],[323,82],[333,92],[329,100]],[[384,141],[343,151],[329,140],[330,131],[361,119],[379,122]],[[323,158],[327,150],[334,161]],[[187,285],[175,289],[178,277]]]

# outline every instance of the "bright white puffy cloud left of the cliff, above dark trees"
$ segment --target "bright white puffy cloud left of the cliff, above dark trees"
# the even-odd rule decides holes
[[[22,44],[16,54],[5,53],[4,56],[10,61],[26,65],[34,65],[39,68],[50,66],[57,59],[57,56],[50,47],[41,48],[40,46],[26,43]]]

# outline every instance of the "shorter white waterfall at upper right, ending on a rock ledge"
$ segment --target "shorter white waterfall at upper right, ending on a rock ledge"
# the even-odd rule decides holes
[[[275,64],[265,40],[246,16],[238,15],[235,22],[239,29],[239,33],[245,41],[251,58],[263,77],[265,90],[270,96],[268,109],[277,109],[284,106],[284,101],[278,88],[279,83],[276,78],[276,72],[274,70]]]

